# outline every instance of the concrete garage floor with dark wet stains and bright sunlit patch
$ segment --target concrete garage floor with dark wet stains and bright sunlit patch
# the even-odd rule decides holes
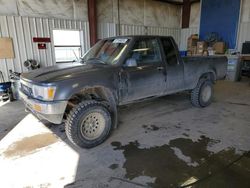
[[[124,106],[118,129],[89,150],[72,146],[63,125],[5,104],[0,187],[249,187],[249,99],[248,82],[221,81],[204,109],[186,93]]]

